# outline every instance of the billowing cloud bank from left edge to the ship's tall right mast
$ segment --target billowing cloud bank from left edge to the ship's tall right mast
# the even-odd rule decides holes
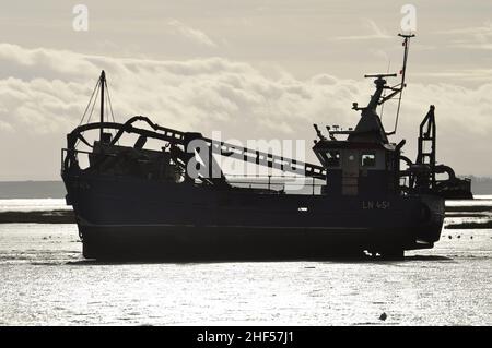
[[[359,94],[349,80],[318,75],[303,82],[286,73],[272,79],[222,58],[154,61],[1,44],[3,49],[9,53],[0,53],[0,63],[10,65],[14,76],[0,80],[0,100],[16,117],[2,117],[14,128],[31,125],[31,132],[77,123],[102,69],[120,119],[144,113],[185,129],[233,130],[242,124],[271,135],[278,124],[293,136],[321,109],[341,120],[352,101],[347,98]],[[303,128],[311,131],[309,123]]]

